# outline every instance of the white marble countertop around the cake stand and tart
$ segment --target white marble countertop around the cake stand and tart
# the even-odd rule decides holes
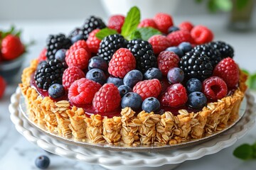
[[[248,69],[250,72],[256,72],[255,44],[256,30],[247,33],[234,33],[225,29],[226,18],[216,18],[212,16],[197,18],[176,18],[176,23],[189,20],[193,23],[203,23],[213,30],[215,40],[225,40],[235,48],[235,60],[240,64],[241,68]],[[81,26],[83,21],[16,21],[14,22],[18,28],[23,29],[23,40],[36,40],[36,45],[29,49],[26,56],[26,62],[23,67],[28,66],[29,61],[38,57],[38,54],[45,45],[46,37],[50,33],[69,33],[75,26]],[[0,21],[1,28],[8,28],[11,25],[8,21]],[[16,86],[20,80],[17,79],[14,84],[10,84],[3,98],[0,99],[0,169],[37,169],[34,160],[36,157],[46,154],[50,157],[50,167],[48,169],[75,169],[75,170],[103,170],[102,166],[91,165],[83,162],[77,162],[73,159],[59,157],[49,154],[43,149],[28,142],[14,128],[9,118],[8,106],[10,96],[14,93]],[[256,96],[256,94],[254,94]],[[244,162],[233,157],[233,150],[242,143],[250,143],[256,141],[256,126],[254,126],[245,137],[238,140],[235,145],[221,150],[216,154],[205,156],[201,159],[183,162],[176,169],[255,169],[256,160]]]

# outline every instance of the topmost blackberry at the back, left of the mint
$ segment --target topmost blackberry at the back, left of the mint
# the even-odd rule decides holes
[[[101,18],[97,18],[95,16],[90,16],[86,19],[85,24],[81,28],[82,36],[84,40],[87,40],[90,32],[95,29],[106,28],[105,23]]]

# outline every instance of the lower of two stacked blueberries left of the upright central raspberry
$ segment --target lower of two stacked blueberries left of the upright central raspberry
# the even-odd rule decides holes
[[[103,85],[106,82],[106,75],[101,69],[90,69],[86,74],[86,79],[90,79]]]

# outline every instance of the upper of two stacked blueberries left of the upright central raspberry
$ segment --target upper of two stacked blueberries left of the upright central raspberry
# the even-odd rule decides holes
[[[95,56],[89,60],[89,64],[88,64],[89,70],[90,69],[101,69],[104,72],[107,72],[107,67],[108,67],[107,61],[104,60],[102,57]]]

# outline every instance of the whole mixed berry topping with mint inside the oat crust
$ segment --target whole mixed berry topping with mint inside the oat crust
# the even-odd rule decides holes
[[[68,36],[49,35],[31,86],[43,97],[109,118],[125,107],[196,112],[237,89],[233,47],[213,40],[209,28],[174,25],[166,13],[140,22],[139,9],[131,11],[107,25],[90,16]]]

